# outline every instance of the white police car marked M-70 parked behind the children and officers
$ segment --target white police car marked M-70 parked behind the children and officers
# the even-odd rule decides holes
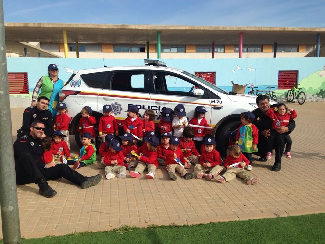
[[[169,68],[157,60],[145,60],[144,66],[120,66],[84,69],[73,74],[59,93],[60,102],[65,102],[71,118],[69,133],[80,144],[78,122],[81,109],[90,106],[97,122],[103,116],[103,106],[110,104],[123,133],[127,108],[135,104],[142,118],[147,109],[155,112],[158,125],[165,107],[174,110],[179,103],[185,106],[188,120],[195,107],[204,106],[208,111],[206,120],[213,127],[217,149],[225,153],[226,132],[240,125],[240,112],[257,108],[256,97],[229,93],[214,84],[186,71]],[[159,135],[159,129],[157,135]]]

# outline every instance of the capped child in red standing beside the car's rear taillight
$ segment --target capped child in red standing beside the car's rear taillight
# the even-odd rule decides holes
[[[70,149],[70,140],[69,140],[69,123],[70,118],[66,114],[68,112],[67,105],[64,102],[59,102],[57,105],[58,115],[55,117],[55,122],[53,125],[53,129],[55,130],[61,130],[63,135],[63,141],[65,141],[68,145],[68,148]]]

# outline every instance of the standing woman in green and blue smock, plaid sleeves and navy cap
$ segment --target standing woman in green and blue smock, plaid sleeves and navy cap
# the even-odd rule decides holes
[[[64,86],[64,82],[58,78],[58,74],[58,65],[50,64],[48,66],[48,75],[44,75],[38,80],[33,90],[32,96],[32,106],[36,105],[38,96],[45,96],[50,100],[48,104],[48,110],[51,111],[53,120],[57,115],[56,107],[59,102],[59,91]],[[41,92],[38,94],[40,89]]]

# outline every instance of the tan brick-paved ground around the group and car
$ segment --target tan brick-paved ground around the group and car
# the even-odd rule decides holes
[[[37,194],[36,184],[18,185],[22,237],[102,231],[126,224],[197,224],[325,212],[325,103],[290,106],[298,114],[291,134],[293,158],[283,158],[279,172],[271,171],[274,158],[253,161],[251,175],[261,178],[256,185],[238,178],[225,184],[180,177],[171,181],[163,167],[154,180],[103,177],[86,190],[64,179],[49,181],[58,192],[49,199]],[[13,131],[20,127],[22,112],[12,109]],[[77,153],[75,143],[71,151]],[[86,176],[98,172],[104,176],[95,165],[78,170]]]

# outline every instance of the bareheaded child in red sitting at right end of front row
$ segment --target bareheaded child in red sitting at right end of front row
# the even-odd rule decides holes
[[[238,176],[248,185],[256,184],[260,181],[260,178],[249,176],[243,169],[249,163],[249,160],[241,153],[241,148],[238,145],[232,145],[229,147],[229,155],[225,159],[224,167],[227,169],[226,172],[222,176],[215,174],[214,179],[220,183],[226,183]]]

